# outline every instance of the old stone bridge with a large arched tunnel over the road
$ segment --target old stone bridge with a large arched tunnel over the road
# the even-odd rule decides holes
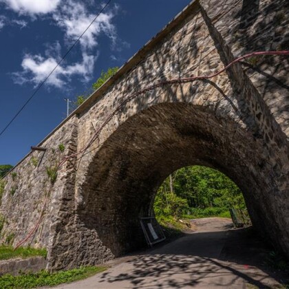
[[[289,256],[288,57],[142,91],[288,50],[288,8],[193,1],[6,176],[1,240],[46,247],[51,269],[107,261],[144,244],[139,217],[167,175],[201,164],[242,189],[253,224]]]

